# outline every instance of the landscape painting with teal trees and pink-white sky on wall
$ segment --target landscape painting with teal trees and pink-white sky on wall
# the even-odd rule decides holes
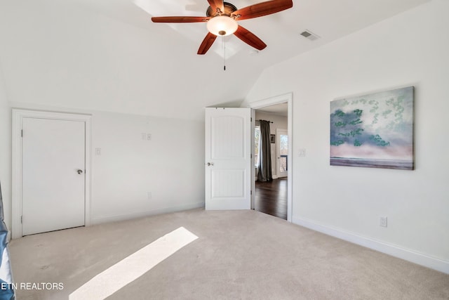
[[[330,102],[330,165],[413,170],[414,87]]]

